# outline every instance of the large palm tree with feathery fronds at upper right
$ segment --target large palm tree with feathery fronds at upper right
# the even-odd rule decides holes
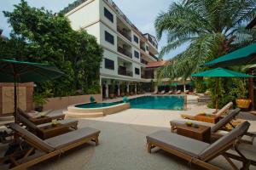
[[[166,33],[167,44],[160,57],[189,42],[189,47],[161,68],[159,78],[189,77],[209,60],[256,40],[256,31],[246,30],[256,17],[256,0],[184,0],[172,3],[155,20],[157,37]]]

